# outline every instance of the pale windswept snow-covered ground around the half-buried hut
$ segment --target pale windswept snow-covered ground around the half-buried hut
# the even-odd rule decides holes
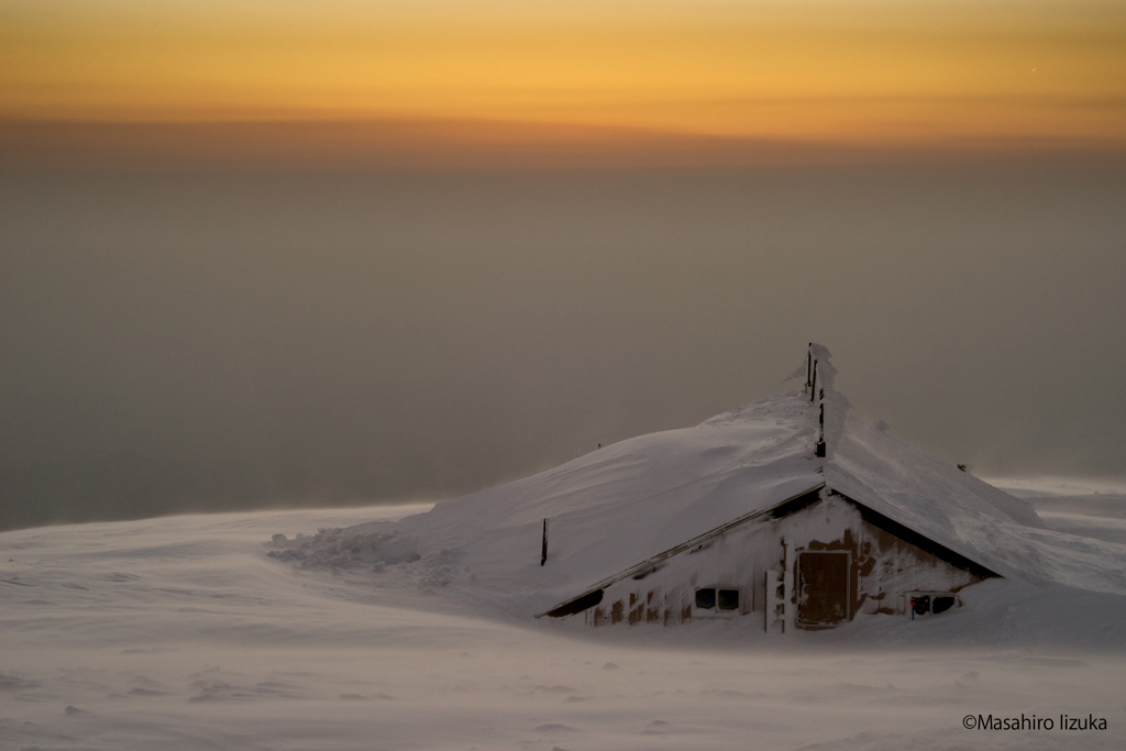
[[[1030,500],[1049,529],[1126,536],[1121,495]],[[753,618],[490,617],[443,587],[440,560],[268,556],[274,534],[425,508],[0,535],[0,749],[1126,748],[1112,591],[985,582],[949,617],[768,637]],[[991,714],[1055,727],[963,726]],[[1061,730],[1062,714],[1107,730]]]

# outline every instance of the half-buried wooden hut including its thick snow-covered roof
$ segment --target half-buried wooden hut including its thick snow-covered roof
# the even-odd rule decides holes
[[[483,604],[591,626],[933,617],[1019,570],[1009,533],[1043,527],[1031,507],[848,414],[833,375],[811,345],[802,391],[439,503],[394,534],[456,560]]]

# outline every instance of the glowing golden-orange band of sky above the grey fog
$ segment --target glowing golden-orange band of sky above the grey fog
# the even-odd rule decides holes
[[[8,126],[445,123],[458,141],[456,124],[472,123],[462,141],[480,143],[492,123],[489,143],[1126,143],[1123,2],[5,0],[0,51]],[[434,132],[420,128],[415,146]]]

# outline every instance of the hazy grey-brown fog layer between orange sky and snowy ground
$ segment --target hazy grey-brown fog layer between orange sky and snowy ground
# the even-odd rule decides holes
[[[0,529],[443,497],[771,390],[1126,474],[1126,170],[0,178]]]

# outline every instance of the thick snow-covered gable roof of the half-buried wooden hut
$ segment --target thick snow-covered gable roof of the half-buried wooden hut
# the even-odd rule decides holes
[[[824,373],[823,458],[820,406],[806,388],[624,440],[396,527],[427,551],[459,551],[486,589],[526,592],[543,608],[822,484],[1002,575],[1027,563],[1007,533],[1043,527],[1026,501],[848,414]],[[545,518],[549,565],[540,567]]]

